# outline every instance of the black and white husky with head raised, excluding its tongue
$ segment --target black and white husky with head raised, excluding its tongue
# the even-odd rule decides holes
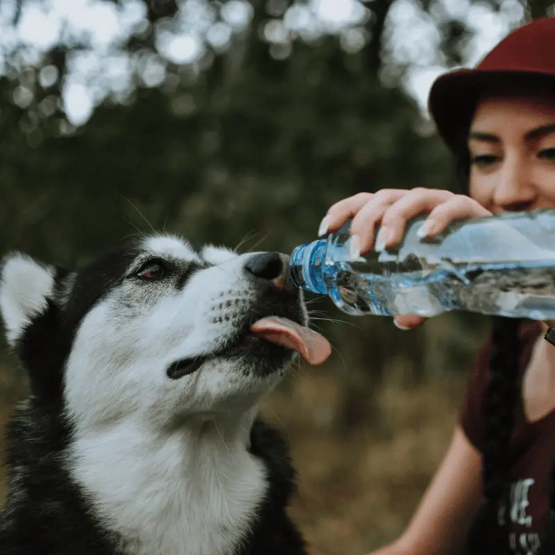
[[[286,447],[257,420],[293,354],[248,333],[307,323],[300,293],[274,286],[286,264],[171,236],[76,272],[3,260],[31,390],[8,430],[1,554],[305,553]]]

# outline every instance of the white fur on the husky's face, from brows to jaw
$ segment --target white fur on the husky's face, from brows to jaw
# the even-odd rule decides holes
[[[178,239],[156,237],[146,249],[176,264],[200,262]],[[208,248],[216,266],[194,273],[182,290],[126,281],[83,319],[66,368],[66,398],[80,425],[96,426],[140,413],[157,425],[203,413],[244,411],[268,391],[268,380],[241,372],[237,361],[216,357],[200,372],[169,380],[168,366],[223,348],[253,300],[244,277],[248,256]]]

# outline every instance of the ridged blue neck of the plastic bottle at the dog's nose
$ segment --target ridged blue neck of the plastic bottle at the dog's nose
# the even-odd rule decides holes
[[[299,245],[291,253],[289,274],[296,287],[326,294],[324,282],[324,262],[327,250],[327,240],[318,239],[311,243]]]

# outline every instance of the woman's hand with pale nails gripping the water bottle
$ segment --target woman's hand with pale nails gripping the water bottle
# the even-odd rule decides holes
[[[482,205],[466,195],[441,189],[382,189],[377,193],[359,193],[335,203],[327,211],[318,235],[334,232],[352,218],[351,236],[353,255],[356,250],[364,255],[371,248],[378,252],[398,244],[407,221],[428,214],[420,228],[420,237],[440,234],[454,220],[488,216]],[[375,230],[379,228],[377,237]],[[422,324],[422,316],[395,316],[395,325],[409,329]]]

